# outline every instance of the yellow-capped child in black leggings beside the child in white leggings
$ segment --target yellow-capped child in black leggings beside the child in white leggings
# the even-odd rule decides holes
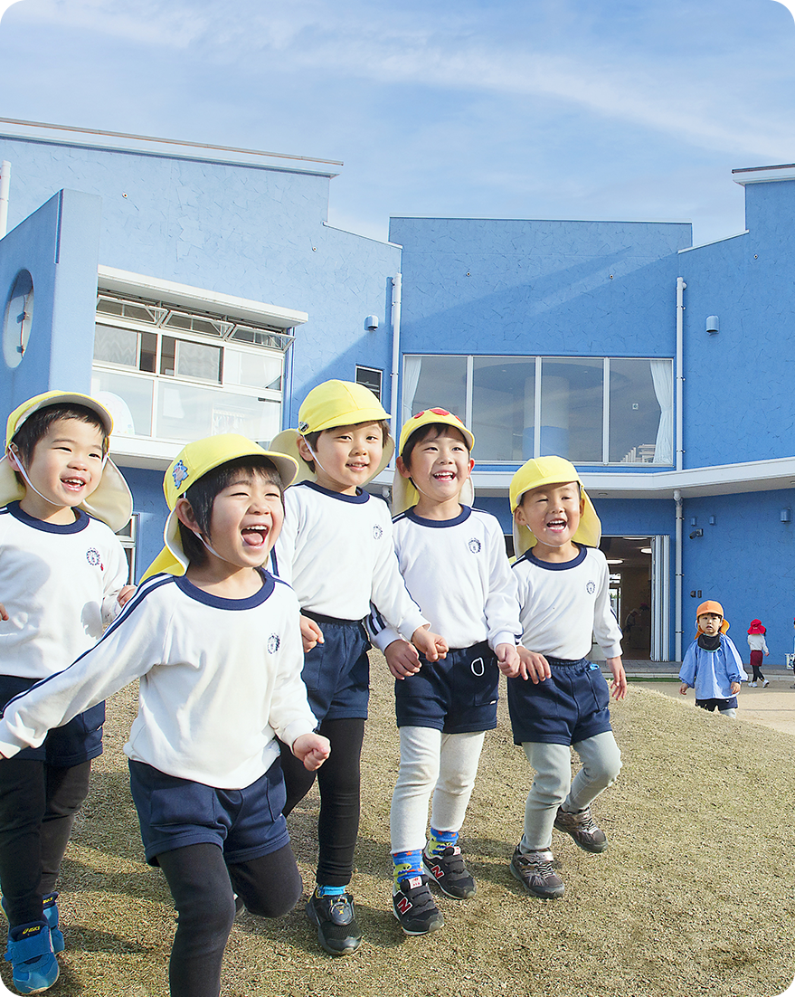
[[[380,402],[362,385],[326,381],[307,395],[298,417],[298,434],[285,431],[271,445],[298,455],[309,479],[287,491],[276,560],[301,603],[302,677],[319,731],[332,745],[318,775],[320,856],[307,915],[321,946],[346,955],[362,942],[346,887],[359,833],[359,762],[370,694],[364,619],[371,602],[429,660],[443,656],[446,644],[426,629],[428,621],[405,589],[387,503],[363,491],[395,449]],[[417,660],[416,651],[409,656]],[[287,815],[314,776],[284,751],[283,758]]]

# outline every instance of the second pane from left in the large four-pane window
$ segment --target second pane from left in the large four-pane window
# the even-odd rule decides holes
[[[534,357],[474,357],[472,432],[477,459],[522,463],[533,456]]]

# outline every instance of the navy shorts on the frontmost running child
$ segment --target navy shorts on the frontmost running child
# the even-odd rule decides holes
[[[217,844],[224,860],[235,864],[268,855],[290,841],[278,758],[244,790],[218,790],[131,761],[130,788],[149,865],[156,865],[163,851],[189,844]]]

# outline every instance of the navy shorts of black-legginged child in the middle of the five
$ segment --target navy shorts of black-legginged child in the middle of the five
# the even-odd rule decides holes
[[[323,720],[363,717],[370,703],[370,640],[362,620],[339,620],[301,610],[323,631],[324,642],[304,655],[301,678],[312,712]]]

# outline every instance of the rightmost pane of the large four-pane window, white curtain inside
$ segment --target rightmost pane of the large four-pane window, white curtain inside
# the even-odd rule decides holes
[[[611,360],[610,461],[671,464],[670,360]]]

